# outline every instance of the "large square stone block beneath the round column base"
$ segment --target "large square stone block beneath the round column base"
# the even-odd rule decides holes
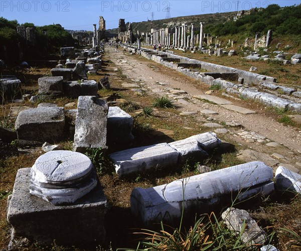
[[[79,174],[79,163],[76,164],[73,168]],[[45,166],[45,172],[48,167]],[[69,171],[70,167],[66,166]],[[64,173],[54,170],[58,171]],[[104,216],[108,204],[100,184],[74,203],[53,205],[29,193],[30,180],[31,168],[19,169],[13,194],[8,199],[7,219],[12,225],[10,250],[22,249],[20,243],[24,239],[39,245],[50,245],[55,240],[59,245],[94,246],[105,240]]]

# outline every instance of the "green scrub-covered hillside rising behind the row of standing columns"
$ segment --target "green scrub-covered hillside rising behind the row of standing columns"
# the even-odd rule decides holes
[[[234,21],[233,18],[239,15],[239,19]],[[219,36],[219,41],[222,42],[231,39],[241,44],[247,37],[254,38],[256,32],[260,32],[263,35],[268,30],[272,30],[274,43],[279,40],[290,44],[291,47],[296,48],[296,51],[300,49],[301,5],[280,8],[278,5],[273,4],[265,9],[255,8],[239,13],[215,13],[144,21],[132,23],[132,27],[134,34],[136,34],[137,31],[140,33],[150,32],[152,28],[174,28],[176,25],[186,23],[189,33],[191,23],[194,23],[195,34],[199,34],[200,22],[205,23],[204,33],[210,33],[211,36]],[[107,31],[107,37],[114,36],[118,36],[118,28]]]

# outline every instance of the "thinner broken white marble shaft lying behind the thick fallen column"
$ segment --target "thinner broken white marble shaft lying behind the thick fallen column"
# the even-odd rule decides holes
[[[215,133],[209,132],[176,141],[146,147],[138,147],[110,155],[119,177],[157,167],[175,166],[190,156],[208,155],[207,150],[221,143]]]

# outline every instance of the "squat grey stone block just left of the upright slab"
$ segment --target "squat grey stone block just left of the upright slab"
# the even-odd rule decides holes
[[[64,127],[63,107],[38,107],[23,110],[15,123],[18,140],[41,143],[61,141],[64,136]]]

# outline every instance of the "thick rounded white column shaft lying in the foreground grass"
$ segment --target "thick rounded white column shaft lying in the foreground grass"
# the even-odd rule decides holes
[[[235,199],[269,194],[274,190],[272,178],[272,168],[254,161],[157,187],[135,188],[130,196],[131,212],[145,225],[161,220],[176,222],[183,206],[184,216],[189,217],[209,213]]]

